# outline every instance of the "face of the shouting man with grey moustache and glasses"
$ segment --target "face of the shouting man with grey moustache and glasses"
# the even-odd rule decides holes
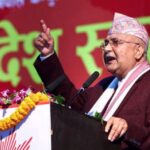
[[[135,58],[140,46],[135,36],[126,34],[112,34],[107,36],[103,50],[106,69],[120,78],[137,64]]]

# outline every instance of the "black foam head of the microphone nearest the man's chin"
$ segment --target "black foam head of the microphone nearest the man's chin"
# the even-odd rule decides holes
[[[95,71],[92,75],[83,83],[82,87],[88,88],[99,76],[99,72]]]

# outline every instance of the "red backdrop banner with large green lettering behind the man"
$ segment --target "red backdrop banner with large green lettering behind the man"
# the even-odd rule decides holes
[[[77,87],[95,70],[101,72],[99,78],[109,75],[99,45],[114,12],[139,18],[150,33],[149,0],[20,0],[20,4],[0,3],[0,90],[41,89],[33,67],[38,55],[33,40],[40,31],[40,19],[51,27],[58,56]]]

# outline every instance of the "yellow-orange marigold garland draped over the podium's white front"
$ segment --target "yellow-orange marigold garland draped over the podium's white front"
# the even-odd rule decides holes
[[[30,93],[25,97],[18,108],[10,116],[0,120],[0,131],[8,130],[18,125],[36,106],[38,102],[46,102],[50,100],[50,96],[37,92]]]

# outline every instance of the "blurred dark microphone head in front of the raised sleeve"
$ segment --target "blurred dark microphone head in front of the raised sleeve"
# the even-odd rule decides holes
[[[50,92],[52,93],[53,90],[55,90],[60,84],[61,82],[65,79],[65,75],[61,75],[59,76],[56,80],[54,80],[52,83],[50,83],[48,86],[46,86],[45,88],[45,92]]]

